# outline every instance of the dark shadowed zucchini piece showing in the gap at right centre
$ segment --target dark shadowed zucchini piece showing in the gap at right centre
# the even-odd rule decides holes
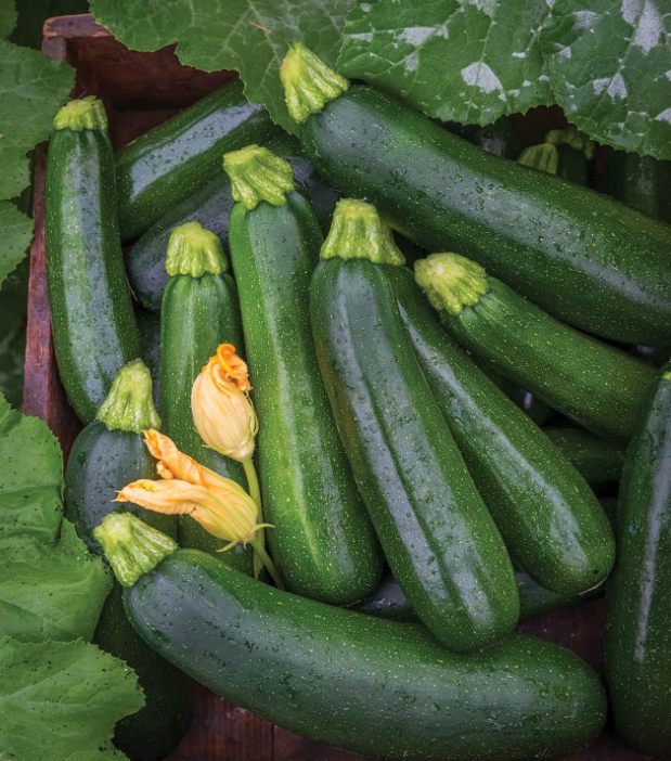
[[[573,465],[592,489],[620,482],[625,450],[580,428],[543,428],[543,433]]]

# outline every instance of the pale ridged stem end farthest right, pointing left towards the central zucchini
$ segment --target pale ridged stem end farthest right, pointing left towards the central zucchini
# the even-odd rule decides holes
[[[431,254],[415,262],[415,280],[439,311],[461,314],[475,307],[488,291],[487,273],[459,254]]]

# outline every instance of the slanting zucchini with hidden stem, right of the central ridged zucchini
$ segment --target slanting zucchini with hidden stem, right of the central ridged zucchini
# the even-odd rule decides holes
[[[584,478],[450,338],[412,272],[386,270],[422,372],[513,560],[553,592],[599,584],[615,540]]]

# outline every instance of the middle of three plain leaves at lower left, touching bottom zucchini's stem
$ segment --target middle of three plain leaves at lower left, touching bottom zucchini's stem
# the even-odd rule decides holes
[[[112,577],[64,520],[65,543],[16,542],[0,551],[0,636],[90,642]]]

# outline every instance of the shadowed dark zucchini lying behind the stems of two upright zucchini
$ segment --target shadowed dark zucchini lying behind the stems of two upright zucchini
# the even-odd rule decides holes
[[[308,191],[320,225],[327,229],[336,191],[318,177],[295,138],[282,133],[270,140],[268,147],[289,162],[294,176]],[[169,209],[142,235],[132,247],[126,268],[133,293],[144,307],[156,311],[160,309],[163,291],[169,276],[166,272],[166,249],[172,229],[184,222],[199,222],[225,244],[232,206],[231,182],[228,175],[220,171],[193,195]]]

